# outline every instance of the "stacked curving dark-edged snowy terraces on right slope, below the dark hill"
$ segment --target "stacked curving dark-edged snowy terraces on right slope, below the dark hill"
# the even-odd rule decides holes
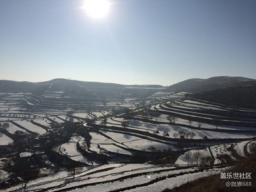
[[[166,122],[166,118],[171,115],[176,116],[175,124],[186,125],[187,127],[256,131],[255,112],[252,109],[224,108],[224,106],[209,104],[209,102],[185,101],[176,100],[175,102],[156,104],[150,107],[150,111],[161,114],[158,118],[158,122],[161,123]],[[166,115],[166,118],[163,115]],[[252,136],[255,136],[255,134],[252,134]],[[233,138],[233,136],[230,138]]]

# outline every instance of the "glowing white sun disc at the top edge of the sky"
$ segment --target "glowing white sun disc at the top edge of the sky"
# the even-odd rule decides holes
[[[107,0],[86,0],[84,8],[90,17],[102,19],[108,14],[109,6]]]

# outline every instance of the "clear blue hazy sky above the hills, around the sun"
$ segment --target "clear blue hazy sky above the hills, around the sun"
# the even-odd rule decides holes
[[[0,0],[0,79],[256,79],[255,0],[111,3],[107,17],[93,19],[84,0]]]

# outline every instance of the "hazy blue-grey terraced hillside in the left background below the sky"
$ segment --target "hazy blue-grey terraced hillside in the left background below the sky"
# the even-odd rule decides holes
[[[126,100],[140,100],[165,88],[161,85],[124,85],[70,79],[39,83],[3,80],[0,81],[0,99],[10,96],[6,101],[14,100],[15,106],[33,111],[108,111],[118,106],[124,107]]]

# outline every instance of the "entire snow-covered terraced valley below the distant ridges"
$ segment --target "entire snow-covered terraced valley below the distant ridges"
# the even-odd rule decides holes
[[[20,129],[14,124],[7,130],[12,134],[0,130],[1,147],[13,143],[0,150],[19,152],[6,161],[15,168],[29,163],[27,169],[40,177],[31,176],[23,191],[163,191],[223,172],[253,154],[256,120],[251,109],[184,99],[184,92],[161,89],[152,89],[142,100],[140,94],[149,89],[99,94],[101,86],[80,87],[77,97],[77,87],[49,83],[44,92],[10,94],[0,103],[0,118],[29,132],[12,137]],[[138,98],[132,89],[140,92]],[[26,100],[24,106],[20,99]],[[35,113],[9,113],[28,106]],[[15,190],[22,191],[17,180],[4,192]]]

